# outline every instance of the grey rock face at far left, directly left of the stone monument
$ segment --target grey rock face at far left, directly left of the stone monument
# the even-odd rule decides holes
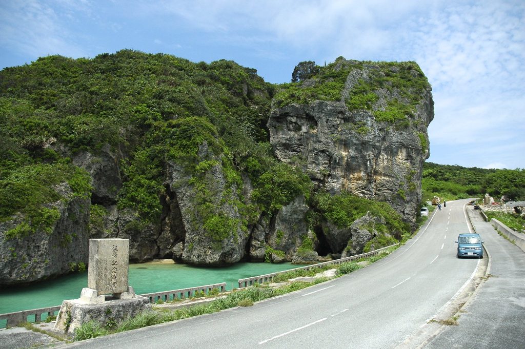
[[[89,198],[74,197],[67,184],[55,190],[62,199],[48,205],[58,211],[58,219],[50,227],[10,237],[7,232],[19,219],[0,223],[0,285],[27,284],[87,265]]]

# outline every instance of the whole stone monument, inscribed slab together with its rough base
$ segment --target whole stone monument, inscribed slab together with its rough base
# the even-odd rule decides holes
[[[96,321],[111,327],[151,308],[149,299],[128,284],[128,239],[90,239],[88,287],[80,299],[62,302],[55,329],[74,335],[83,323]]]

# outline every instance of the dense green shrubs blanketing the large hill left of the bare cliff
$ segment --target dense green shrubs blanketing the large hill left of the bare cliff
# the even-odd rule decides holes
[[[206,211],[215,203],[204,176],[213,164],[197,156],[203,143],[230,184],[240,190],[240,173],[251,178],[261,210],[271,213],[310,192],[306,176],[272,155],[266,118],[274,89],[255,69],[233,61],[195,64],[132,50],[93,59],[49,56],[6,68],[0,72],[0,219],[27,216],[20,234],[49,226],[38,222],[50,219],[45,207],[60,199],[57,185],[68,183],[81,196],[91,190],[88,174],[69,157],[98,154],[109,144],[128,155],[120,164],[120,208],[158,220],[167,164],[178,163],[193,177],[209,235],[222,237],[214,223],[224,219]],[[256,219],[249,206],[236,205],[249,220],[243,225]]]

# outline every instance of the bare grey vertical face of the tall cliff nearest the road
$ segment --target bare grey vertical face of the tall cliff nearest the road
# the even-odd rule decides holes
[[[408,100],[406,93],[388,85],[382,72],[396,72],[400,69],[396,65],[362,66],[344,59],[339,59],[338,65],[339,70],[345,66],[351,70],[337,100],[282,107],[274,103],[268,121],[274,152],[279,160],[302,166],[318,189],[385,201],[414,224],[421,201],[423,163],[429,157],[427,126],[434,118],[430,87],[411,91],[412,99]],[[424,78],[413,69],[408,73]],[[352,91],[364,81],[372,84],[377,79],[385,82],[383,87],[370,87],[376,96],[371,99],[374,102],[362,108],[349,107],[349,102],[365,96]],[[316,83],[322,84],[304,81],[299,90]],[[380,112],[388,112],[394,102],[411,108],[402,113],[391,108],[392,118],[374,115],[382,117]]]

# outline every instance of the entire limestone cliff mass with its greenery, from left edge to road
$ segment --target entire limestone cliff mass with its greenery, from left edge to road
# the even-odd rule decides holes
[[[231,61],[123,50],[0,72],[0,194],[13,202],[0,207],[0,286],[78,270],[89,238],[130,239],[131,262],[221,266],[320,261],[408,234],[389,219],[394,208],[414,224],[421,200],[434,117],[421,69],[313,68],[277,86]],[[391,211],[341,207],[348,193]]]

